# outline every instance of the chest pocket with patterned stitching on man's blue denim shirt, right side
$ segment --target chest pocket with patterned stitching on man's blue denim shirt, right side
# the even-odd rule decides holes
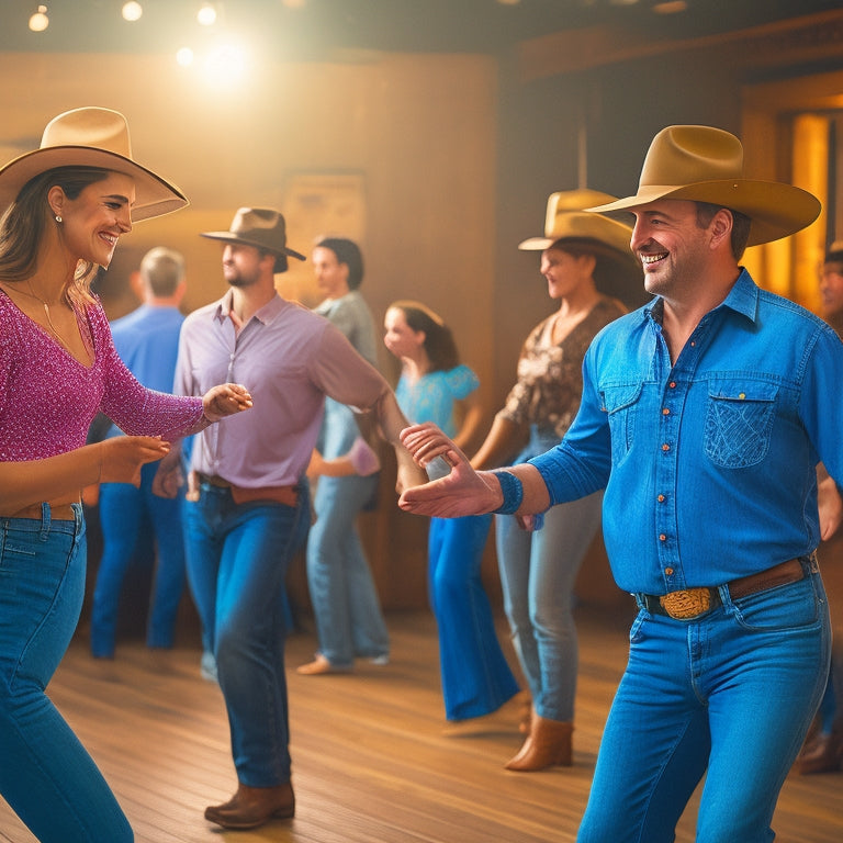
[[[751,378],[709,382],[706,456],[724,469],[756,465],[769,450],[778,385]]]

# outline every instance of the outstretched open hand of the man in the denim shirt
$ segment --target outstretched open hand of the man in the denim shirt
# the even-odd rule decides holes
[[[401,431],[401,442],[422,468],[437,457],[451,467],[451,473],[441,480],[406,488],[398,498],[405,512],[460,518],[494,512],[503,503],[495,476],[474,471],[468,457],[436,425],[411,425]]]

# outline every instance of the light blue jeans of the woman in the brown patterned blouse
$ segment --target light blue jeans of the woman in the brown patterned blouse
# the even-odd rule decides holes
[[[532,431],[516,462],[557,445]],[[580,645],[573,616],[576,574],[600,524],[603,492],[554,506],[540,530],[522,530],[512,515],[496,517],[497,560],[513,642],[540,717],[574,717]]]

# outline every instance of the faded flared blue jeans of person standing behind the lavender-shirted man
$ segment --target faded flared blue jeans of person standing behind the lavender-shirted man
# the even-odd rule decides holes
[[[390,637],[357,516],[378,483],[370,477],[319,477],[316,522],[307,538],[307,584],[319,652],[337,666],[355,656],[389,655]]]

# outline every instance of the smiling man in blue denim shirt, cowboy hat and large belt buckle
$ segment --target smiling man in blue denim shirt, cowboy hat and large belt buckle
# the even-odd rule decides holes
[[[636,216],[631,247],[655,297],[595,338],[565,439],[475,473],[438,430],[411,427],[402,439],[417,461],[445,454],[454,470],[401,505],[537,527],[548,507],[605,488],[612,573],[640,611],[577,839],[673,841],[707,772],[697,842],[768,842],[829,662],[816,468],[835,494],[843,345],[739,260],[820,205],[744,179],[733,135],[671,126],[638,193],[592,210],[619,209]]]

